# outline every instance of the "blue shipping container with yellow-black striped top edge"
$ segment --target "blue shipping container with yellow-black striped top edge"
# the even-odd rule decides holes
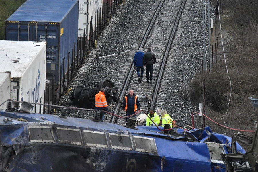
[[[46,78],[58,83],[60,65],[78,38],[78,0],[27,0],[5,21],[5,40],[47,42]],[[69,66],[71,65],[71,58]],[[61,74],[61,75],[60,75]],[[59,76],[59,77],[58,77]]]

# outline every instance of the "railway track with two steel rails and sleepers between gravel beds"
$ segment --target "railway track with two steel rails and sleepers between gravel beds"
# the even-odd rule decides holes
[[[151,46],[156,54],[156,63],[153,66],[153,85],[146,83],[146,79],[138,82],[136,69],[134,69],[132,64],[134,57],[134,52],[132,52],[129,54],[132,58],[128,58],[130,60],[126,61],[125,66],[127,67],[122,71],[123,74],[118,79],[116,85],[118,89],[122,90],[120,94],[121,100],[132,89],[136,95],[152,97],[153,101],[151,103],[141,102],[141,109],[145,111],[148,111],[150,107],[158,107],[163,103],[164,93],[167,91],[166,86],[170,77],[169,72],[173,68],[176,45],[182,31],[183,21],[187,16],[188,10],[185,8],[189,8],[188,1],[179,0],[172,3],[168,0],[161,0],[159,4],[155,4],[157,9],[156,11],[151,11],[153,17],[150,20],[150,24],[146,30],[143,29],[142,40],[139,43],[136,42],[135,47],[135,50],[138,50],[139,47],[143,47],[146,50],[148,46]],[[126,116],[126,113],[122,111],[121,103],[118,103],[114,113]],[[115,118],[114,116],[109,120],[111,123],[126,124],[125,119]]]

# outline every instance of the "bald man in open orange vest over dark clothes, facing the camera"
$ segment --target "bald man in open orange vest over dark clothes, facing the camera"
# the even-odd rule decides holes
[[[133,90],[130,90],[129,94],[125,96],[122,110],[126,111],[126,116],[135,114],[137,110],[138,111],[140,110],[140,102],[138,100],[137,95],[134,94]],[[133,117],[135,117],[135,115]],[[126,122],[127,122],[127,118],[126,118]]]

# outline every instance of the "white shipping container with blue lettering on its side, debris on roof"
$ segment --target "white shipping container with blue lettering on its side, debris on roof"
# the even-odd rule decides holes
[[[46,87],[46,42],[0,40],[0,59],[0,72],[11,72],[11,99],[40,103]]]

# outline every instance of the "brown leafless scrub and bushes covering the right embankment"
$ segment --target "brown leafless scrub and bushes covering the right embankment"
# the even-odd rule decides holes
[[[258,98],[257,7],[257,0],[223,0],[221,23],[224,24],[222,39],[226,52],[227,69],[219,34],[220,25],[217,22],[218,32],[215,40],[219,34],[217,42],[218,63],[212,72],[196,74],[188,87],[192,103],[202,103],[203,81],[205,79],[205,114],[230,128],[255,130],[251,119],[258,120],[258,109],[253,108],[251,100],[248,98]],[[231,97],[229,78],[232,86]],[[228,136],[238,132],[221,127],[209,120],[206,120],[207,125],[212,127],[213,132],[226,133]],[[252,133],[241,133],[252,136]]]

